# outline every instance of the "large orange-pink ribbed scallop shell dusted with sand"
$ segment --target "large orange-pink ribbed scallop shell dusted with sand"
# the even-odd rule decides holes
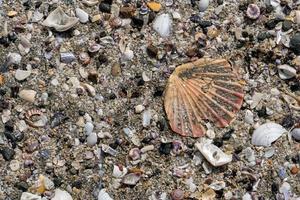
[[[243,102],[243,87],[225,59],[203,58],[178,66],[168,80],[164,106],[172,130],[200,137],[205,123],[226,127]]]

